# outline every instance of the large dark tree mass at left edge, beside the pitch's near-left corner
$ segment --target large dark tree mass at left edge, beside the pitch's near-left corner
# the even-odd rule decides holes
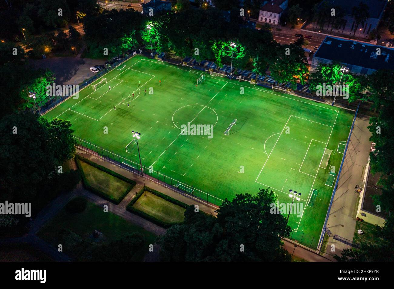
[[[69,121],[52,120],[30,111],[0,120],[0,201],[42,202],[58,193],[58,173],[75,153]]]

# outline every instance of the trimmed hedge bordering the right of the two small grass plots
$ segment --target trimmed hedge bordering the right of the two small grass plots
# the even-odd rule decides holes
[[[155,217],[153,217],[153,216],[151,216],[151,215],[149,215],[149,214],[147,214],[145,212],[142,212],[142,211],[134,208],[133,205],[137,202],[139,197],[141,197],[141,195],[145,191],[149,191],[150,193],[152,193],[152,194],[164,199],[165,201],[171,202],[171,203],[173,203],[175,205],[178,205],[178,206],[180,206],[182,208],[186,209],[189,206],[189,205],[185,204],[184,202],[178,201],[178,200],[176,200],[174,198],[171,198],[171,197],[165,195],[164,193],[160,193],[160,191],[156,191],[156,190],[153,190],[153,189],[151,189],[151,188],[149,188],[147,186],[144,186],[136,194],[136,196],[131,200],[131,202],[127,205],[127,210],[129,212],[132,212],[133,214],[139,215],[140,217],[143,217],[144,219],[147,219],[147,220],[151,221],[152,223],[154,223],[154,224],[156,224],[158,226],[161,226],[163,228],[169,228],[169,227],[171,227],[173,225],[179,224],[179,223],[166,223],[166,222],[163,222],[162,220],[156,219]]]

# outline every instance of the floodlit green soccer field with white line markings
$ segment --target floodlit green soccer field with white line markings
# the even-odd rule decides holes
[[[208,74],[197,85],[200,76],[136,55],[106,74],[107,83],[84,88],[45,117],[70,120],[75,136],[134,167],[131,132],[138,131],[142,164],[153,167],[154,177],[165,175],[167,183],[171,177],[174,186],[212,203],[267,187],[280,203],[291,203],[288,191],[297,191],[302,211],[290,214],[288,225],[293,237],[316,247],[333,191],[329,171],[338,172],[338,145],[354,112]],[[213,137],[181,134],[188,123],[213,125]]]

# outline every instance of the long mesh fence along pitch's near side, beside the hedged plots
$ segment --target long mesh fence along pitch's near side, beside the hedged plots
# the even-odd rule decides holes
[[[202,202],[214,208],[219,208],[220,204],[223,202],[222,199],[219,199],[214,195],[210,195],[207,192],[201,191],[195,188],[192,184],[186,184],[186,182],[182,182],[182,180],[173,179],[172,177],[166,176],[163,173],[154,171],[152,168],[145,167],[144,165],[140,164],[138,156],[134,154],[133,156],[136,156],[136,161],[133,161],[130,158],[126,158],[124,156],[117,155],[113,151],[108,151],[107,149],[104,149],[101,146],[92,144],[91,142],[88,142],[77,136],[74,136],[74,138],[77,140],[77,143],[79,141],[79,144],[76,145],[76,147],[78,147],[79,149],[82,149],[83,151],[86,151],[88,153],[92,153],[93,155],[98,156],[100,158],[109,160],[111,163],[120,166],[121,168],[127,169],[132,173],[136,173],[144,177],[145,179],[149,179],[152,180],[153,182],[164,185],[166,188],[181,193],[186,197],[194,199],[198,202]],[[117,160],[115,156],[118,157]],[[141,165],[142,165],[142,170],[141,170]]]

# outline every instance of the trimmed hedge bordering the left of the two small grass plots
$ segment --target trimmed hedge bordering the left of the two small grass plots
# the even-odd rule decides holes
[[[91,160],[87,160],[86,158],[82,158],[82,156],[80,156],[80,155],[76,155],[75,160],[76,160],[76,163],[78,165],[78,168],[80,169],[82,182],[84,184],[84,187],[87,190],[91,191],[92,193],[95,193],[95,194],[99,195],[100,197],[103,197],[104,199],[106,199],[106,200],[108,200],[110,202],[113,202],[114,204],[119,204],[123,200],[123,198],[126,197],[128,192],[130,190],[132,190],[132,188],[134,188],[134,186],[136,185],[136,182],[134,182],[134,180],[130,180],[130,179],[124,177],[123,175],[115,173],[114,171],[112,171],[112,170],[110,170],[110,169],[108,169],[106,167],[100,166],[99,164],[96,164],[95,162],[92,162]],[[96,188],[93,188],[93,186],[91,186],[89,184],[89,181],[86,179],[84,170],[82,169],[80,162],[85,162],[86,164],[89,164],[90,166],[93,166],[93,167],[95,167],[97,169],[100,169],[101,171],[104,171],[105,173],[108,173],[108,174],[112,175],[113,177],[121,179],[121,180],[123,180],[123,181],[125,181],[125,182],[127,182],[129,184],[132,184],[132,187],[130,189],[127,189],[125,192],[123,192],[118,199],[115,199],[114,197],[108,195],[106,192],[103,192],[103,191],[100,191],[100,190],[98,190]]]

